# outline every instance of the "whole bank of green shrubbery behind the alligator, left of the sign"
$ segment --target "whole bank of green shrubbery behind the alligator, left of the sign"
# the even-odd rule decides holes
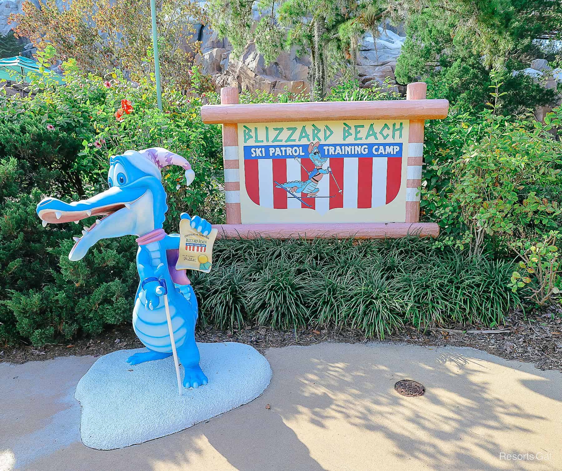
[[[70,262],[77,226],[43,228],[35,212],[46,195],[76,200],[107,188],[108,154],[157,145],[182,154],[197,179],[186,189],[180,169],[163,172],[166,230],[178,230],[183,211],[224,221],[220,128],[202,124],[200,98],[165,91],[162,113],[148,82],[114,76],[104,84],[72,61],[64,67],[65,86],[38,77],[34,95],[0,97],[0,344],[42,345],[130,321],[138,285],[134,238],[100,241]],[[133,112],[118,121],[122,99]]]

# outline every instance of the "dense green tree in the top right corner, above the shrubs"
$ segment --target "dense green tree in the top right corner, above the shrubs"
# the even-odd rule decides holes
[[[422,77],[441,96],[483,106],[495,70],[506,79],[507,112],[546,104],[553,90],[511,71],[543,57],[536,40],[561,27],[562,3],[551,0],[424,0],[407,17],[396,79],[406,84]]]

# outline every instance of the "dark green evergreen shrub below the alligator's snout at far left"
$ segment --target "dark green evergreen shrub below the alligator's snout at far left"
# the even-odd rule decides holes
[[[130,320],[137,289],[133,237],[99,241],[70,262],[77,226],[42,227],[39,190],[7,199],[0,209],[0,344],[19,339],[42,345],[95,335]]]

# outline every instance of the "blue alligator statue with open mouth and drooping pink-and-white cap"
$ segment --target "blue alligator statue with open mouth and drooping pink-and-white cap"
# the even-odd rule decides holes
[[[207,377],[199,366],[199,350],[195,343],[197,299],[185,270],[175,269],[178,259],[179,234],[166,234],[162,225],[167,211],[166,193],[162,186],[160,169],[167,165],[185,169],[187,185],[195,173],[191,165],[178,154],[162,148],[128,150],[110,157],[107,174],[109,189],[92,198],[64,203],[56,198],[45,198],[37,205],[37,214],[47,223],[65,223],[90,216],[102,216],[81,237],[74,237],[70,260],[80,260],[98,240],[125,235],[138,236],[137,269],[140,276],[133,309],[133,328],[147,352],[135,353],[127,360],[135,365],[166,358],[172,353],[167,327],[164,287],[168,290],[170,316],[178,358],[185,369],[184,387],[207,384]],[[191,220],[191,227],[208,235],[211,225],[206,220],[183,213],[182,219]],[[165,280],[165,283],[162,282]]]

